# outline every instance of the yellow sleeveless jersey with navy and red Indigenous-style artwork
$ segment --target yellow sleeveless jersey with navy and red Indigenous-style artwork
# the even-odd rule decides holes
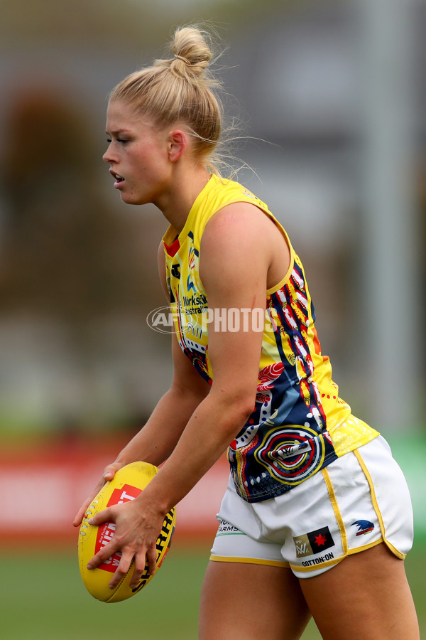
[[[288,272],[266,292],[253,412],[228,448],[236,491],[256,502],[292,489],[378,432],[339,398],[329,358],[321,353],[305,272],[285,230],[253,193],[217,176],[197,196],[182,232],[177,235],[170,226],[163,238],[175,334],[185,356],[211,384],[209,324],[224,327],[233,318],[231,309],[209,309],[199,272],[200,243],[212,215],[234,202],[260,208],[290,247]]]

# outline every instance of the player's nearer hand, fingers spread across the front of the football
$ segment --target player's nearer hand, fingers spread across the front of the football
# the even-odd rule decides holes
[[[119,566],[109,583],[109,587],[114,589],[129,571],[134,558],[130,586],[136,587],[141,580],[146,562],[150,575],[155,573],[156,543],[164,518],[165,513],[160,513],[155,505],[143,500],[143,494],[131,502],[113,505],[100,511],[88,521],[89,525],[99,526],[102,523],[114,522],[116,529],[110,542],[89,560],[87,568],[94,569],[114,553],[121,553]]]

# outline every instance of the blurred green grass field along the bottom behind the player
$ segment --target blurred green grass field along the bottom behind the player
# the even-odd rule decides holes
[[[196,640],[200,588],[208,545],[172,548],[158,576],[137,597],[117,604],[93,599],[80,579],[72,550],[0,554],[2,640]],[[426,541],[406,560],[408,577],[426,637]],[[244,593],[241,594],[244,602]],[[320,640],[315,624],[303,640]]]

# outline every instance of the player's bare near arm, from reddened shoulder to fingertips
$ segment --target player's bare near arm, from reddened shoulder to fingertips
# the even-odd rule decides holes
[[[230,207],[217,214],[217,220],[212,220],[203,236],[200,274],[212,309],[265,308],[271,260],[266,242],[259,238],[269,223],[261,214],[253,215],[251,206],[238,209],[240,215],[247,215],[244,231],[241,232],[241,218],[236,208]],[[229,279],[226,267],[231,252],[240,265],[234,279]],[[212,388],[193,412],[173,453],[141,496],[121,508],[103,511],[93,521],[97,525],[107,520],[116,521],[113,540],[90,562],[96,567],[121,550],[119,570],[111,585],[119,582],[133,557],[136,559],[135,584],[146,558],[150,567],[154,566],[155,540],[165,513],[171,508],[169,505],[178,503],[219,459],[253,409],[262,333],[253,331],[251,323],[247,331],[219,329],[214,331],[213,327],[209,337],[214,369]]]

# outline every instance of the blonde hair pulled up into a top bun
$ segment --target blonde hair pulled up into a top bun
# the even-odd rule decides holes
[[[209,71],[213,58],[209,33],[190,26],[175,31],[173,58],[155,60],[151,67],[131,73],[112,90],[109,100],[133,105],[159,127],[187,125],[194,137],[194,154],[217,171],[217,145],[222,132],[220,83]]]

